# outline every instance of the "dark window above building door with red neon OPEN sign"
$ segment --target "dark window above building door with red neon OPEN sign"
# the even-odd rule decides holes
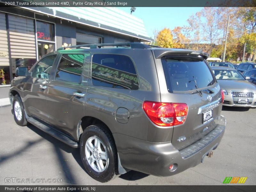
[[[42,21],[36,21],[37,40],[54,41],[54,25]]]

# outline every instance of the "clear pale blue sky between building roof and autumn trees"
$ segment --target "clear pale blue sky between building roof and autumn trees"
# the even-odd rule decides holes
[[[131,12],[131,7],[118,7],[125,12]],[[175,27],[188,25],[187,19],[203,9],[203,7],[136,7],[132,15],[144,21],[149,37],[154,38],[154,30],[164,27],[171,30]]]

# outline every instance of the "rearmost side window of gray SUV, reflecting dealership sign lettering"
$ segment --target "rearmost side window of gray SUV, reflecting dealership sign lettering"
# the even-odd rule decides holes
[[[139,89],[134,64],[125,55],[94,54],[92,57],[92,84],[120,89]]]

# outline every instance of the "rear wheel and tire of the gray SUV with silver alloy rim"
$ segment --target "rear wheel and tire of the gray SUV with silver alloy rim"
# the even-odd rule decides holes
[[[86,172],[102,183],[116,177],[117,151],[112,135],[102,125],[88,126],[80,138],[80,154]]]

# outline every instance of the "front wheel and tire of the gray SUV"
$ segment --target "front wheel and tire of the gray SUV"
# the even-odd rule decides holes
[[[19,95],[15,95],[13,98],[12,110],[13,110],[14,121],[20,126],[26,126],[28,122],[26,120],[25,111]]]

